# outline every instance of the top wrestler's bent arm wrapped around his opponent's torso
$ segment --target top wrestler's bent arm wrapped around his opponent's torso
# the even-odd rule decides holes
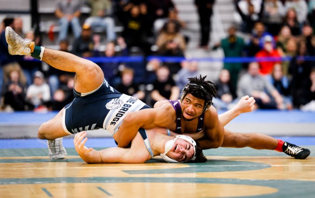
[[[167,128],[172,121],[172,113],[169,113],[173,108],[171,105],[162,105],[160,108],[142,109],[128,113],[123,119],[119,127],[119,131],[114,135],[118,143],[118,147],[126,147],[136,136],[139,128],[152,129],[154,127]],[[174,110],[173,110],[174,111]]]

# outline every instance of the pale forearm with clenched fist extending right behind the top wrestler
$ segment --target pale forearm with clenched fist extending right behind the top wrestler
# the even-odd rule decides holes
[[[241,113],[246,113],[246,112],[250,112],[253,111],[254,109],[254,104],[255,104],[255,99],[253,97],[249,97],[249,96],[243,96],[237,103],[237,105],[220,114],[219,117],[219,121],[223,126],[226,126],[229,122],[231,122],[235,117],[237,117],[238,115],[240,115]]]

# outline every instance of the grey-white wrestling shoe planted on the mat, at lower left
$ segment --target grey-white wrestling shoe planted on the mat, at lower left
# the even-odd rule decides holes
[[[62,138],[56,138],[54,140],[47,140],[48,150],[49,150],[49,159],[65,159],[67,151],[62,145]]]

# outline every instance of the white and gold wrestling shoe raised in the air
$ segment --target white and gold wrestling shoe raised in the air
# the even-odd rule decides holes
[[[11,27],[6,27],[6,41],[11,55],[30,55],[34,51],[35,43],[24,41]]]

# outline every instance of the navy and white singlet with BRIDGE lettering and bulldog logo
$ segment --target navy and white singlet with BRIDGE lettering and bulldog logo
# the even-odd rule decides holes
[[[150,108],[132,96],[121,94],[103,84],[89,93],[73,90],[75,99],[64,109],[62,127],[69,134],[81,131],[106,129],[114,135],[128,112]]]

